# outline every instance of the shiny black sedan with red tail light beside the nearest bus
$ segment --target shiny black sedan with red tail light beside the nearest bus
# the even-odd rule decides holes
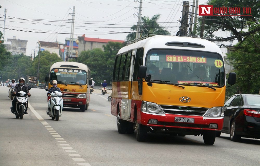
[[[260,95],[235,94],[224,103],[224,122],[221,133],[230,134],[231,141],[241,137],[260,139]]]

